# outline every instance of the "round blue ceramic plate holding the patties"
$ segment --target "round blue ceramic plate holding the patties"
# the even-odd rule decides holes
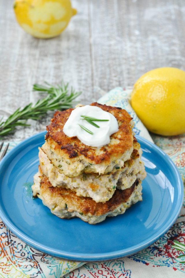
[[[143,201],[123,215],[96,225],[78,218],[60,219],[32,199],[30,186],[38,169],[38,146],[45,132],[12,149],[0,163],[0,217],[16,236],[45,253],[78,261],[130,255],[160,238],[174,223],[183,201],[183,184],[169,157],[147,140],[143,149],[147,177]]]

